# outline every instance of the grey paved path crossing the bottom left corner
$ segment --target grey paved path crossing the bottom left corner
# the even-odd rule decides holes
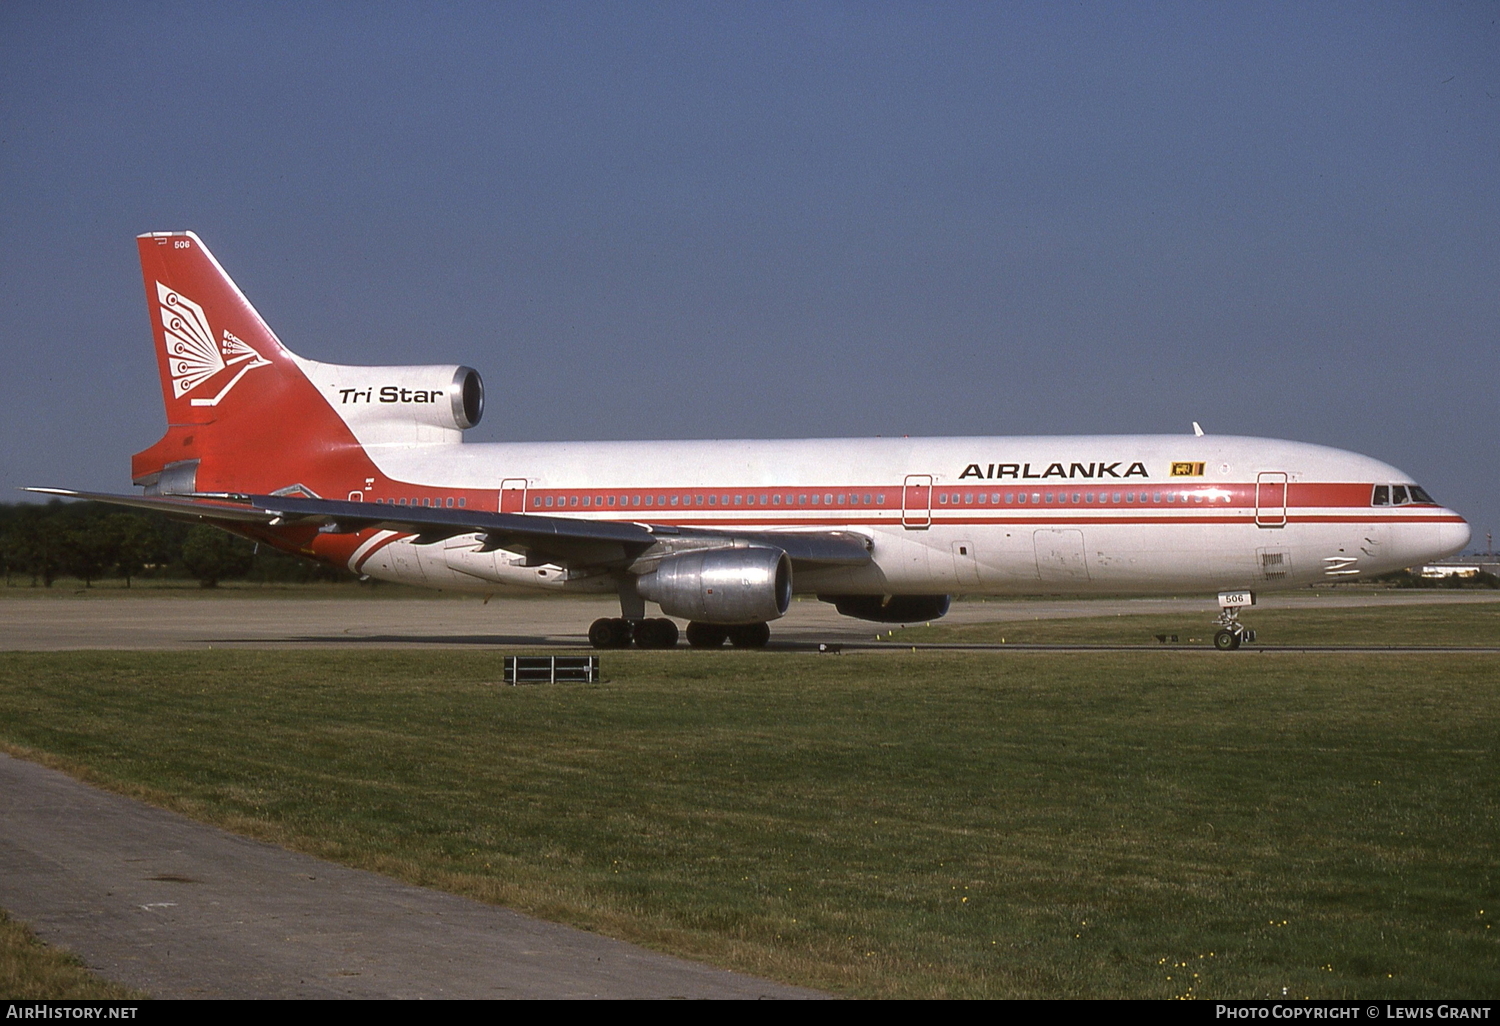
[[[819,998],[286,852],[0,754],[0,908],[158,998]]]

